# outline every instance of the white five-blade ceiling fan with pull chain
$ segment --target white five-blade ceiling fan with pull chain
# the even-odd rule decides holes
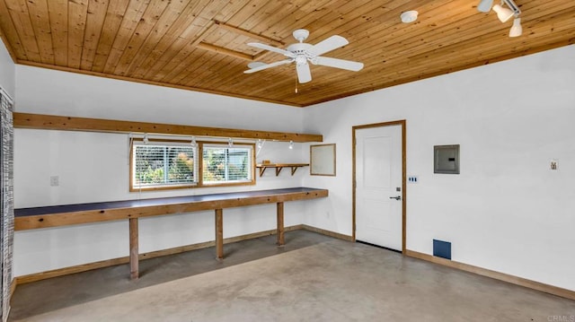
[[[307,62],[310,62],[314,65],[324,65],[324,66],[346,69],[353,72],[358,72],[361,68],[363,68],[363,63],[321,56],[327,53],[328,51],[332,51],[333,49],[341,48],[349,44],[348,39],[335,35],[328,39],[324,39],[315,45],[311,45],[304,42],[305,39],[307,39],[307,37],[309,36],[308,30],[298,29],[294,31],[293,35],[294,38],[299,42],[289,45],[288,48],[286,49],[261,44],[259,42],[248,43],[249,46],[270,50],[282,54],[285,57],[288,57],[288,59],[280,60],[278,62],[271,64],[253,62],[248,64],[248,67],[250,67],[250,69],[248,69],[243,73],[252,74],[271,67],[291,64],[295,62],[297,71],[297,80],[299,81],[299,83],[307,83],[312,80],[312,73],[309,69],[309,64]]]

